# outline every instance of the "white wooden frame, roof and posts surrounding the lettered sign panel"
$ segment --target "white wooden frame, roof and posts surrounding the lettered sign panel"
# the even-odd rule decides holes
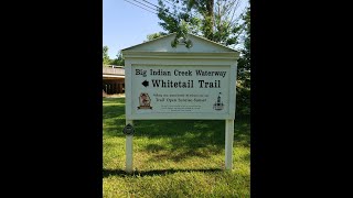
[[[188,34],[188,36],[193,40],[192,48],[186,48],[185,46],[176,46],[175,48],[172,48],[170,47],[170,42],[173,40],[174,35],[175,33],[122,50],[126,75],[126,124],[133,124],[133,120],[225,120],[225,168],[232,169],[234,119],[236,111],[236,72],[239,53],[192,34]],[[143,66],[146,66],[146,68],[168,67],[175,69],[185,66],[188,66],[188,68],[226,67],[229,72],[228,85],[226,85],[228,89],[224,92],[224,95],[228,96],[226,113],[156,113],[154,111],[150,111],[152,107],[150,107],[148,102],[143,106],[136,107],[137,95],[136,92],[132,94],[132,89],[136,89],[137,87],[133,86],[136,82],[133,80],[136,79],[132,78],[132,74],[136,72],[133,70],[135,68],[141,68]],[[181,79],[183,77],[181,77]],[[143,82],[141,79],[139,80],[140,81],[137,81],[136,84]],[[143,91],[141,92],[143,94]],[[145,111],[146,113],[137,113],[136,108],[143,108],[148,111]],[[132,173],[132,135],[126,136],[126,172]]]

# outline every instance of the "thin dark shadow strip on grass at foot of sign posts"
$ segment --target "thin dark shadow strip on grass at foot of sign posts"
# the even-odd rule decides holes
[[[108,176],[119,176],[119,177],[126,177],[126,176],[163,176],[163,175],[170,175],[175,173],[190,173],[190,172],[200,172],[200,173],[216,173],[216,172],[223,172],[221,168],[210,168],[210,169],[153,169],[153,170],[146,170],[146,172],[139,172],[135,170],[132,174],[128,174],[122,169],[103,169],[103,177]]]

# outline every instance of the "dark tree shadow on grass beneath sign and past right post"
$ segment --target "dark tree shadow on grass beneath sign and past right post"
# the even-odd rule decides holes
[[[145,151],[160,152],[152,161],[172,160],[180,162],[189,157],[207,158],[221,153],[225,144],[224,120],[138,120],[135,122],[136,136],[164,139],[160,144],[147,144]],[[250,146],[250,124],[239,120],[235,123],[235,146]],[[165,143],[168,146],[165,146]]]

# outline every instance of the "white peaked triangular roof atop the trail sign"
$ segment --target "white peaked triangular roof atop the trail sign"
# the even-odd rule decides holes
[[[224,46],[222,44],[215,43],[207,38],[194,35],[186,34],[186,38],[190,38],[193,43],[192,47],[186,48],[183,44],[178,44],[176,47],[171,46],[171,42],[174,40],[176,33],[171,33],[156,40],[151,40],[145,43],[140,43],[127,48],[121,50],[121,52],[205,52],[205,53],[217,53],[217,52],[237,52],[233,48]],[[237,52],[238,53],[238,52]]]

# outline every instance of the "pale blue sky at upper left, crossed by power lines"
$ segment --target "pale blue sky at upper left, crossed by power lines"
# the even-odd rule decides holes
[[[164,32],[158,24],[161,21],[157,14],[135,6],[139,4],[136,1],[153,8],[143,0],[103,0],[103,45],[108,46],[111,59],[117,58],[120,50],[147,41],[148,34]],[[158,6],[158,0],[147,1]],[[247,0],[242,0],[238,11],[244,10],[246,2]]]

